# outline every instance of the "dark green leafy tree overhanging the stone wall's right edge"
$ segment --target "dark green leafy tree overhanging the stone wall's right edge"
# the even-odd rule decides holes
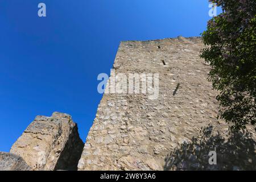
[[[256,0],[210,0],[222,13],[203,32],[201,57],[212,67],[209,80],[220,91],[218,117],[236,130],[256,122]],[[256,130],[256,129],[255,129]]]

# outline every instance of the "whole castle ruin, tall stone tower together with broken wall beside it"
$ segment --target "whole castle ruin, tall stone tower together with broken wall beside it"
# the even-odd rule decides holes
[[[255,132],[233,132],[216,118],[202,48],[198,37],[121,42],[112,72],[158,74],[157,97],[142,91],[143,81],[137,93],[105,93],[84,145],[69,115],[37,117],[11,148],[29,166],[19,169],[255,170]]]

